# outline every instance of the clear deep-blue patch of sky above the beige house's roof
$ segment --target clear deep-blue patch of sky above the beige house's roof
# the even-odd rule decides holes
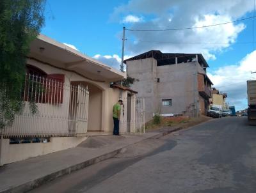
[[[75,45],[88,56],[120,54],[122,24],[110,22],[109,15],[121,2],[48,0],[42,33]]]

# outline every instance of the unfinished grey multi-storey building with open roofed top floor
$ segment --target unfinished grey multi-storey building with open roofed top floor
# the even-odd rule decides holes
[[[124,62],[127,75],[139,80],[131,88],[145,98],[146,121],[157,112],[198,116],[207,111],[212,82],[202,54],[150,50]]]

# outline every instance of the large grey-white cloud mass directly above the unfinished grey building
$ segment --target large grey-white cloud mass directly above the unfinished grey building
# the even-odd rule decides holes
[[[253,2],[243,0],[162,0],[161,3],[159,0],[131,0],[116,7],[111,19],[120,20],[127,13],[141,15],[147,20],[131,23],[130,29],[168,29],[230,22],[252,9]],[[152,49],[162,52],[200,52],[206,59],[216,59],[216,53],[225,51],[236,42],[244,28],[242,23],[230,23],[182,31],[127,31],[125,50],[131,55]],[[141,42],[143,40],[155,43]]]

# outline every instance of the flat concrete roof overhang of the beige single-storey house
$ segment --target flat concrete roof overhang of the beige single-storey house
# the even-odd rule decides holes
[[[126,77],[126,73],[41,34],[31,43],[28,57],[63,70],[77,72],[93,81],[115,82]]]

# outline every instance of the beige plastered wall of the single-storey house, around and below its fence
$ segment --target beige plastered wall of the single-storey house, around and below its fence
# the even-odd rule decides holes
[[[103,131],[113,132],[113,118],[112,108],[113,105],[118,102],[120,96],[127,96],[127,91],[120,92],[117,88],[110,88],[109,82],[97,82],[90,79],[86,79],[81,75],[74,72],[68,72],[54,68],[53,66],[45,63],[40,63],[33,59],[28,59],[28,65],[36,66],[47,74],[61,73],[65,75],[65,84],[83,84],[88,86],[89,90],[89,114],[88,114],[88,130],[90,131]],[[120,95],[121,94],[121,95]],[[68,90],[64,90],[63,103],[58,107],[51,107],[49,104],[39,104],[38,110],[44,105],[48,105],[49,112],[58,112],[58,114],[65,114],[68,112],[63,109],[68,109],[70,102],[70,93]],[[26,109],[25,109],[26,110]],[[22,124],[22,123],[19,123]],[[33,127],[33,128],[32,128]],[[35,123],[31,126],[32,129],[44,127],[44,123]],[[60,127],[60,125],[58,125]],[[63,121],[61,127],[67,127],[68,123]],[[52,132],[52,130],[51,130]],[[58,132],[58,130],[56,130]],[[87,139],[87,137],[51,137],[49,143],[31,143],[31,144],[10,144],[10,139],[3,139],[3,146],[1,150],[1,164],[8,164],[19,160],[24,160],[30,157],[36,157],[52,153],[55,151],[66,150],[68,148],[74,148],[77,144]],[[0,164],[0,165],[1,165]]]

